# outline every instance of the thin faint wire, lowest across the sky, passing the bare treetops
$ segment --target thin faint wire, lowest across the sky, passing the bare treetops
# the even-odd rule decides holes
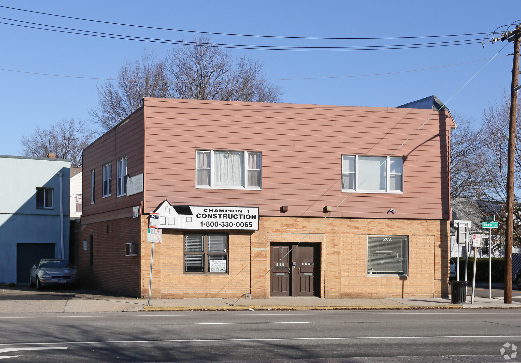
[[[505,56],[495,57],[495,58],[501,58],[501,57],[506,57],[506,55]],[[460,64],[480,62],[480,61],[489,60],[489,59],[492,59],[492,58],[471,60],[471,61],[462,62],[462,63],[446,64],[446,66],[429,67],[429,68],[413,69],[413,70],[409,70],[409,71],[398,71],[398,72],[388,72],[388,73],[341,75],[341,76],[332,76],[332,77],[303,77],[303,78],[278,78],[278,79],[275,78],[275,79],[269,79],[269,80],[261,80],[261,79],[259,79],[259,80],[218,81],[218,82],[219,83],[226,83],[226,82],[300,81],[300,80],[324,80],[324,79],[336,79],[336,78],[367,77],[367,76],[375,76],[375,75],[386,75],[386,74],[398,74],[398,73],[426,71],[426,70],[429,70],[429,69],[437,69],[437,68],[444,68],[444,67],[459,66]],[[4,69],[4,68],[0,68],[0,71],[9,71],[9,72],[17,72],[17,73],[28,73],[28,74],[38,74],[38,75],[49,75],[49,76],[55,76],[55,77],[79,78],[79,79],[86,79],[86,80],[123,81],[123,82],[163,82],[163,81],[120,80],[120,79],[111,79],[111,78],[81,77],[81,76],[74,76],[74,75],[62,75],[62,74],[50,74],[50,73],[36,73],[36,72],[18,71],[18,70],[14,70],[14,69]],[[170,81],[170,82],[192,83],[193,81]],[[217,82],[217,81],[203,81],[203,82]]]

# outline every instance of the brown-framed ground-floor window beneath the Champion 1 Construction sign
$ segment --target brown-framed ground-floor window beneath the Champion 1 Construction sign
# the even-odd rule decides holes
[[[228,273],[227,235],[185,235],[184,272]]]

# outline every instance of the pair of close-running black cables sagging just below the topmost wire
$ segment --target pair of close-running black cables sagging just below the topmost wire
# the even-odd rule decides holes
[[[5,18],[0,18],[0,19],[5,19]],[[14,20],[14,21],[19,21],[19,20]],[[26,23],[28,23],[28,22],[26,22]],[[89,35],[89,36],[97,36],[97,37],[104,37],[104,38],[114,38],[114,39],[123,39],[123,40],[139,41],[139,42],[176,44],[176,45],[192,43],[195,46],[207,46],[207,47],[215,47],[215,48],[233,48],[233,49],[308,50],[308,51],[388,50],[388,49],[431,48],[431,47],[444,47],[444,46],[453,46],[453,45],[466,45],[466,44],[480,44],[481,43],[481,42],[472,42],[474,40],[470,39],[470,40],[464,40],[464,41],[456,41],[456,42],[467,42],[467,43],[455,43],[455,44],[424,43],[424,44],[434,44],[434,45],[420,45],[420,46],[408,46],[407,44],[403,44],[403,45],[365,46],[366,48],[363,48],[363,46],[361,46],[361,47],[349,47],[349,49],[345,49],[347,47],[342,47],[341,49],[338,49],[338,48],[335,48],[335,47],[324,47],[326,49],[322,49],[321,47],[316,47],[316,48],[315,47],[293,48],[293,47],[289,47],[289,46],[280,47],[279,48],[277,46],[220,45],[220,44],[185,42],[185,41],[175,41],[175,40],[154,40],[154,38],[142,38],[142,37],[131,36],[131,35],[110,34],[110,33],[101,33],[101,32],[91,32],[91,31],[88,31],[88,30],[78,30],[78,29],[71,29],[71,28],[54,27],[54,25],[42,25],[42,26],[44,26],[44,27],[53,27],[53,28],[61,28],[61,29],[70,29],[70,30],[73,30],[73,31],[58,30],[58,29],[47,29],[47,28],[40,28],[40,27],[31,27],[29,25],[13,24],[13,23],[7,23],[7,22],[0,22],[0,24],[15,25],[17,27],[31,28],[31,29],[40,29],[40,30],[47,30],[47,31],[53,31],[53,32],[60,32],[60,33]],[[34,24],[34,23],[32,23],[32,24]],[[87,33],[81,33],[81,32],[89,32],[89,33],[95,33],[95,34],[87,34]],[[102,34],[105,34],[105,35],[102,35]],[[414,44],[411,44],[411,45],[414,45]],[[387,48],[383,48],[383,47],[387,47]],[[319,48],[319,49],[317,49],[317,48]]]

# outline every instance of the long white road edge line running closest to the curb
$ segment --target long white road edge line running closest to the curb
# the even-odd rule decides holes
[[[521,307],[521,306],[520,306]],[[277,315],[481,315],[481,314],[521,314],[517,313],[502,313],[502,312],[485,312],[476,313],[473,311],[465,313],[294,313],[294,314],[150,314],[150,315],[70,315],[70,316],[0,316],[0,319],[48,319],[48,318],[146,318],[154,316],[277,316]]]

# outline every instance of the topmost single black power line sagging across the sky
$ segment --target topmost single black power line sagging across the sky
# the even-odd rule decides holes
[[[32,12],[34,14],[42,14],[55,16],[60,18],[68,18],[68,19],[76,19],[76,20],[84,20],[84,21],[92,21],[97,23],[104,24],[113,24],[113,25],[124,25],[126,27],[135,27],[135,28],[145,28],[145,29],[156,29],[156,30],[169,30],[176,32],[186,32],[186,33],[199,33],[199,34],[215,34],[215,35],[234,35],[234,36],[254,36],[254,37],[265,37],[265,38],[289,38],[289,39],[330,39],[330,40],[368,40],[368,39],[410,39],[410,38],[434,38],[434,37],[447,37],[447,36],[466,36],[466,35],[482,35],[482,34],[490,34],[490,33],[468,33],[468,34],[450,34],[450,35],[425,35],[425,36],[392,36],[392,37],[313,37],[313,36],[280,36],[280,35],[256,35],[256,34],[235,34],[235,33],[217,33],[217,32],[202,32],[202,31],[192,31],[192,30],[182,30],[182,29],[169,29],[169,28],[158,28],[158,27],[146,27],[145,25],[134,25],[134,24],[126,24],[126,23],[116,23],[111,21],[102,21],[102,20],[93,20],[93,19],[84,19],[84,18],[76,18],[65,15],[57,15],[50,14],[48,12],[41,11],[33,11],[27,9],[19,9],[9,6],[2,6],[2,8],[13,9],[19,11]]]

